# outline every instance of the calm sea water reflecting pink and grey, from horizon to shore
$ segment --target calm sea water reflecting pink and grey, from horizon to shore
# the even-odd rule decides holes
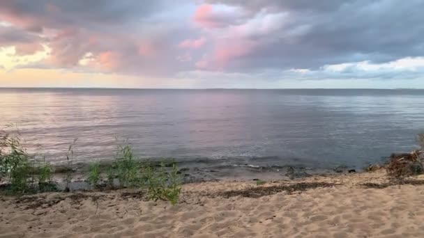
[[[75,159],[112,159],[119,137],[139,157],[199,166],[361,168],[424,132],[424,90],[3,88],[0,111],[56,162],[74,138]]]

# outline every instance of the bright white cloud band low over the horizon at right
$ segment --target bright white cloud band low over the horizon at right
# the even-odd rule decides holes
[[[176,75],[180,79],[194,79],[199,81],[239,81],[250,87],[255,85],[271,86],[284,81],[342,81],[356,79],[370,79],[388,81],[396,79],[404,82],[422,80],[424,84],[424,57],[400,58],[387,63],[370,63],[369,61],[348,62],[333,65],[324,65],[317,70],[308,68],[292,68],[289,70],[275,70],[273,68],[252,70],[251,72],[214,72],[207,70],[193,70],[180,72]],[[263,84],[260,84],[263,81]],[[303,82],[303,83],[302,83]],[[311,83],[308,83],[311,84]],[[315,84],[315,83],[314,83]]]

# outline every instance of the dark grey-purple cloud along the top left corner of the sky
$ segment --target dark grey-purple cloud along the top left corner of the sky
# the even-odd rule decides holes
[[[163,8],[165,3],[167,1],[164,0],[12,0],[0,2],[0,13],[21,18],[22,23],[31,19],[33,24],[38,24],[41,28],[66,27],[82,22],[85,24],[123,24],[132,19],[149,17]],[[29,22],[25,23],[30,24]]]

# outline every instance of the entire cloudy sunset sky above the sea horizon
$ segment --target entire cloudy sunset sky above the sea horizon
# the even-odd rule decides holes
[[[4,0],[0,87],[424,88],[422,0]]]

